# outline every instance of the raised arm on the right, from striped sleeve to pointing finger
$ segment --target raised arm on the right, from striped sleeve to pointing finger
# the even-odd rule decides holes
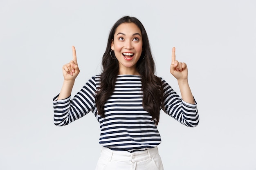
[[[196,102],[188,82],[188,68],[186,63],[178,62],[175,57],[175,47],[172,50],[171,74],[179,84],[181,99],[165,81],[164,85],[164,111],[180,123],[195,127],[198,125],[199,116]]]

